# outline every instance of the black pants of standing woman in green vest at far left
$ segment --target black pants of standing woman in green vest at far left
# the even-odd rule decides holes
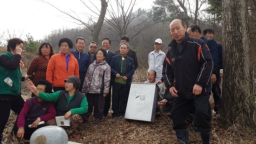
[[[24,103],[25,101],[21,96],[15,96],[11,101],[0,100],[0,141],[2,140],[2,134],[10,116],[10,110],[19,113]]]

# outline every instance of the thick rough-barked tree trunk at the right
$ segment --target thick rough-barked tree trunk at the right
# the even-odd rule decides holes
[[[223,0],[221,123],[256,128],[256,98],[248,24],[248,0]]]

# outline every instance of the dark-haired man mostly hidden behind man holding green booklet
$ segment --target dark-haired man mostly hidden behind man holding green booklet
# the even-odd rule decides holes
[[[129,37],[127,35],[123,35],[120,38],[120,44],[121,43],[126,43],[127,45],[129,45]],[[117,49],[115,53],[116,55],[120,54],[120,49]],[[127,56],[133,59],[135,70],[136,70],[138,67],[138,59],[137,59],[136,52],[129,48],[129,52],[127,53]]]

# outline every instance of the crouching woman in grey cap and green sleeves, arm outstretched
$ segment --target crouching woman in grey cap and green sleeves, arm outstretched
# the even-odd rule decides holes
[[[28,88],[34,95],[44,101],[54,101],[57,103],[56,114],[57,116],[64,116],[68,119],[71,116],[71,126],[77,126],[82,123],[82,114],[87,113],[88,103],[86,96],[78,91],[81,85],[79,77],[70,76],[64,80],[65,90],[56,91],[54,93],[43,93],[38,91],[32,82],[28,82]],[[51,123],[51,124],[50,124]],[[56,120],[48,121],[50,125],[56,125]]]

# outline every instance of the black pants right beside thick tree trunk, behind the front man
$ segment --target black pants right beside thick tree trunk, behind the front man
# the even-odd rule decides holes
[[[221,110],[221,87],[220,87],[221,77],[220,75],[216,75],[216,79],[217,80],[212,87],[214,111],[220,111]]]

